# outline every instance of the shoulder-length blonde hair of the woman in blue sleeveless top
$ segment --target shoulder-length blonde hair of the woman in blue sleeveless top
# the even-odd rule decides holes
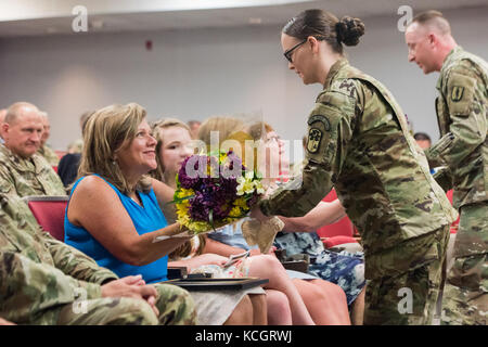
[[[130,145],[145,116],[145,110],[137,103],[110,105],[95,111],[86,124],[78,178],[98,174],[124,194],[133,189],[149,192],[149,177],[142,176],[136,188],[130,187],[115,160],[115,153],[123,146]]]

